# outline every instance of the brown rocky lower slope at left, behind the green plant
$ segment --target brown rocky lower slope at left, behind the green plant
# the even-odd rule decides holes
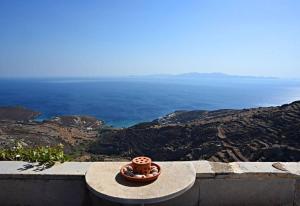
[[[62,116],[37,122],[32,118],[38,112],[19,107],[1,109],[1,148],[11,148],[16,141],[25,147],[55,146],[62,143],[68,154],[78,160],[89,160],[86,148],[96,140],[98,130],[103,126],[102,121],[89,116]]]

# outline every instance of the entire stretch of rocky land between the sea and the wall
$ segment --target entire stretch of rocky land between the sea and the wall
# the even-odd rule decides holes
[[[42,122],[39,112],[0,108],[0,147],[63,143],[78,161],[300,161],[300,101],[242,110],[175,111],[152,122],[113,128],[90,116]]]

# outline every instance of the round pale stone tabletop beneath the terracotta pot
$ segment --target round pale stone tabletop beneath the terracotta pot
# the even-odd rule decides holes
[[[85,175],[88,188],[97,196],[121,204],[151,204],[183,194],[196,179],[190,162],[158,162],[161,174],[150,183],[125,180],[119,171],[125,162],[95,162]]]

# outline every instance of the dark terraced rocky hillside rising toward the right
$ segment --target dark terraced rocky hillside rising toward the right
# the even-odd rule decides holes
[[[300,161],[300,101],[244,110],[177,111],[100,134],[89,152],[155,160]]]

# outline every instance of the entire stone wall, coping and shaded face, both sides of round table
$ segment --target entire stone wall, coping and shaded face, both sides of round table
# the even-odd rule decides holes
[[[0,162],[0,206],[119,205],[88,191],[84,175],[89,164],[67,162],[43,169],[24,162]],[[194,186],[155,205],[300,206],[300,163],[193,161],[193,165]]]

